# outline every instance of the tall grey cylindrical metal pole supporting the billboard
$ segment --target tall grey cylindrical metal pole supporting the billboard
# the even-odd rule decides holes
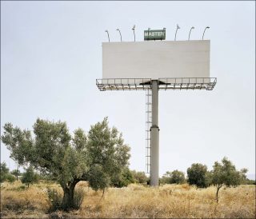
[[[159,128],[158,128],[158,80],[152,81],[152,126],[150,185],[158,186],[159,177]]]

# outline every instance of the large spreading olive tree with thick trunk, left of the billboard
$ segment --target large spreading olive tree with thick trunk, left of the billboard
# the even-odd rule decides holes
[[[62,186],[63,209],[74,203],[78,181],[89,181],[93,189],[105,189],[110,178],[128,165],[130,147],[124,144],[118,129],[110,129],[107,118],[91,125],[86,133],[76,129],[72,137],[66,122],[37,119],[34,134],[30,130],[4,125],[2,142],[18,165],[31,165],[51,173]]]

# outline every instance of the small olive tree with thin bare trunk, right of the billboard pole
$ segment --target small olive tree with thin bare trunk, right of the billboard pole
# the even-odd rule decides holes
[[[222,159],[222,163],[214,162],[213,170],[211,171],[212,184],[216,186],[216,201],[218,203],[218,192],[223,185],[236,186],[240,185],[246,179],[247,169],[236,170],[235,166],[226,157]]]

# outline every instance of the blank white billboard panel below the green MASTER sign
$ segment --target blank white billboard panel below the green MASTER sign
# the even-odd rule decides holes
[[[210,41],[103,42],[102,78],[210,78]]]

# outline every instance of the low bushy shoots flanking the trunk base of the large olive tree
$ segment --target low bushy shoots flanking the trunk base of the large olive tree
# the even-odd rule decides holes
[[[47,189],[47,195],[50,201],[50,209],[49,212],[54,212],[56,210],[63,210],[65,206],[63,205],[63,196],[61,193],[58,193],[57,189]],[[74,201],[73,201],[73,209],[80,209],[82,205],[82,201],[84,198],[83,189],[74,189]]]

